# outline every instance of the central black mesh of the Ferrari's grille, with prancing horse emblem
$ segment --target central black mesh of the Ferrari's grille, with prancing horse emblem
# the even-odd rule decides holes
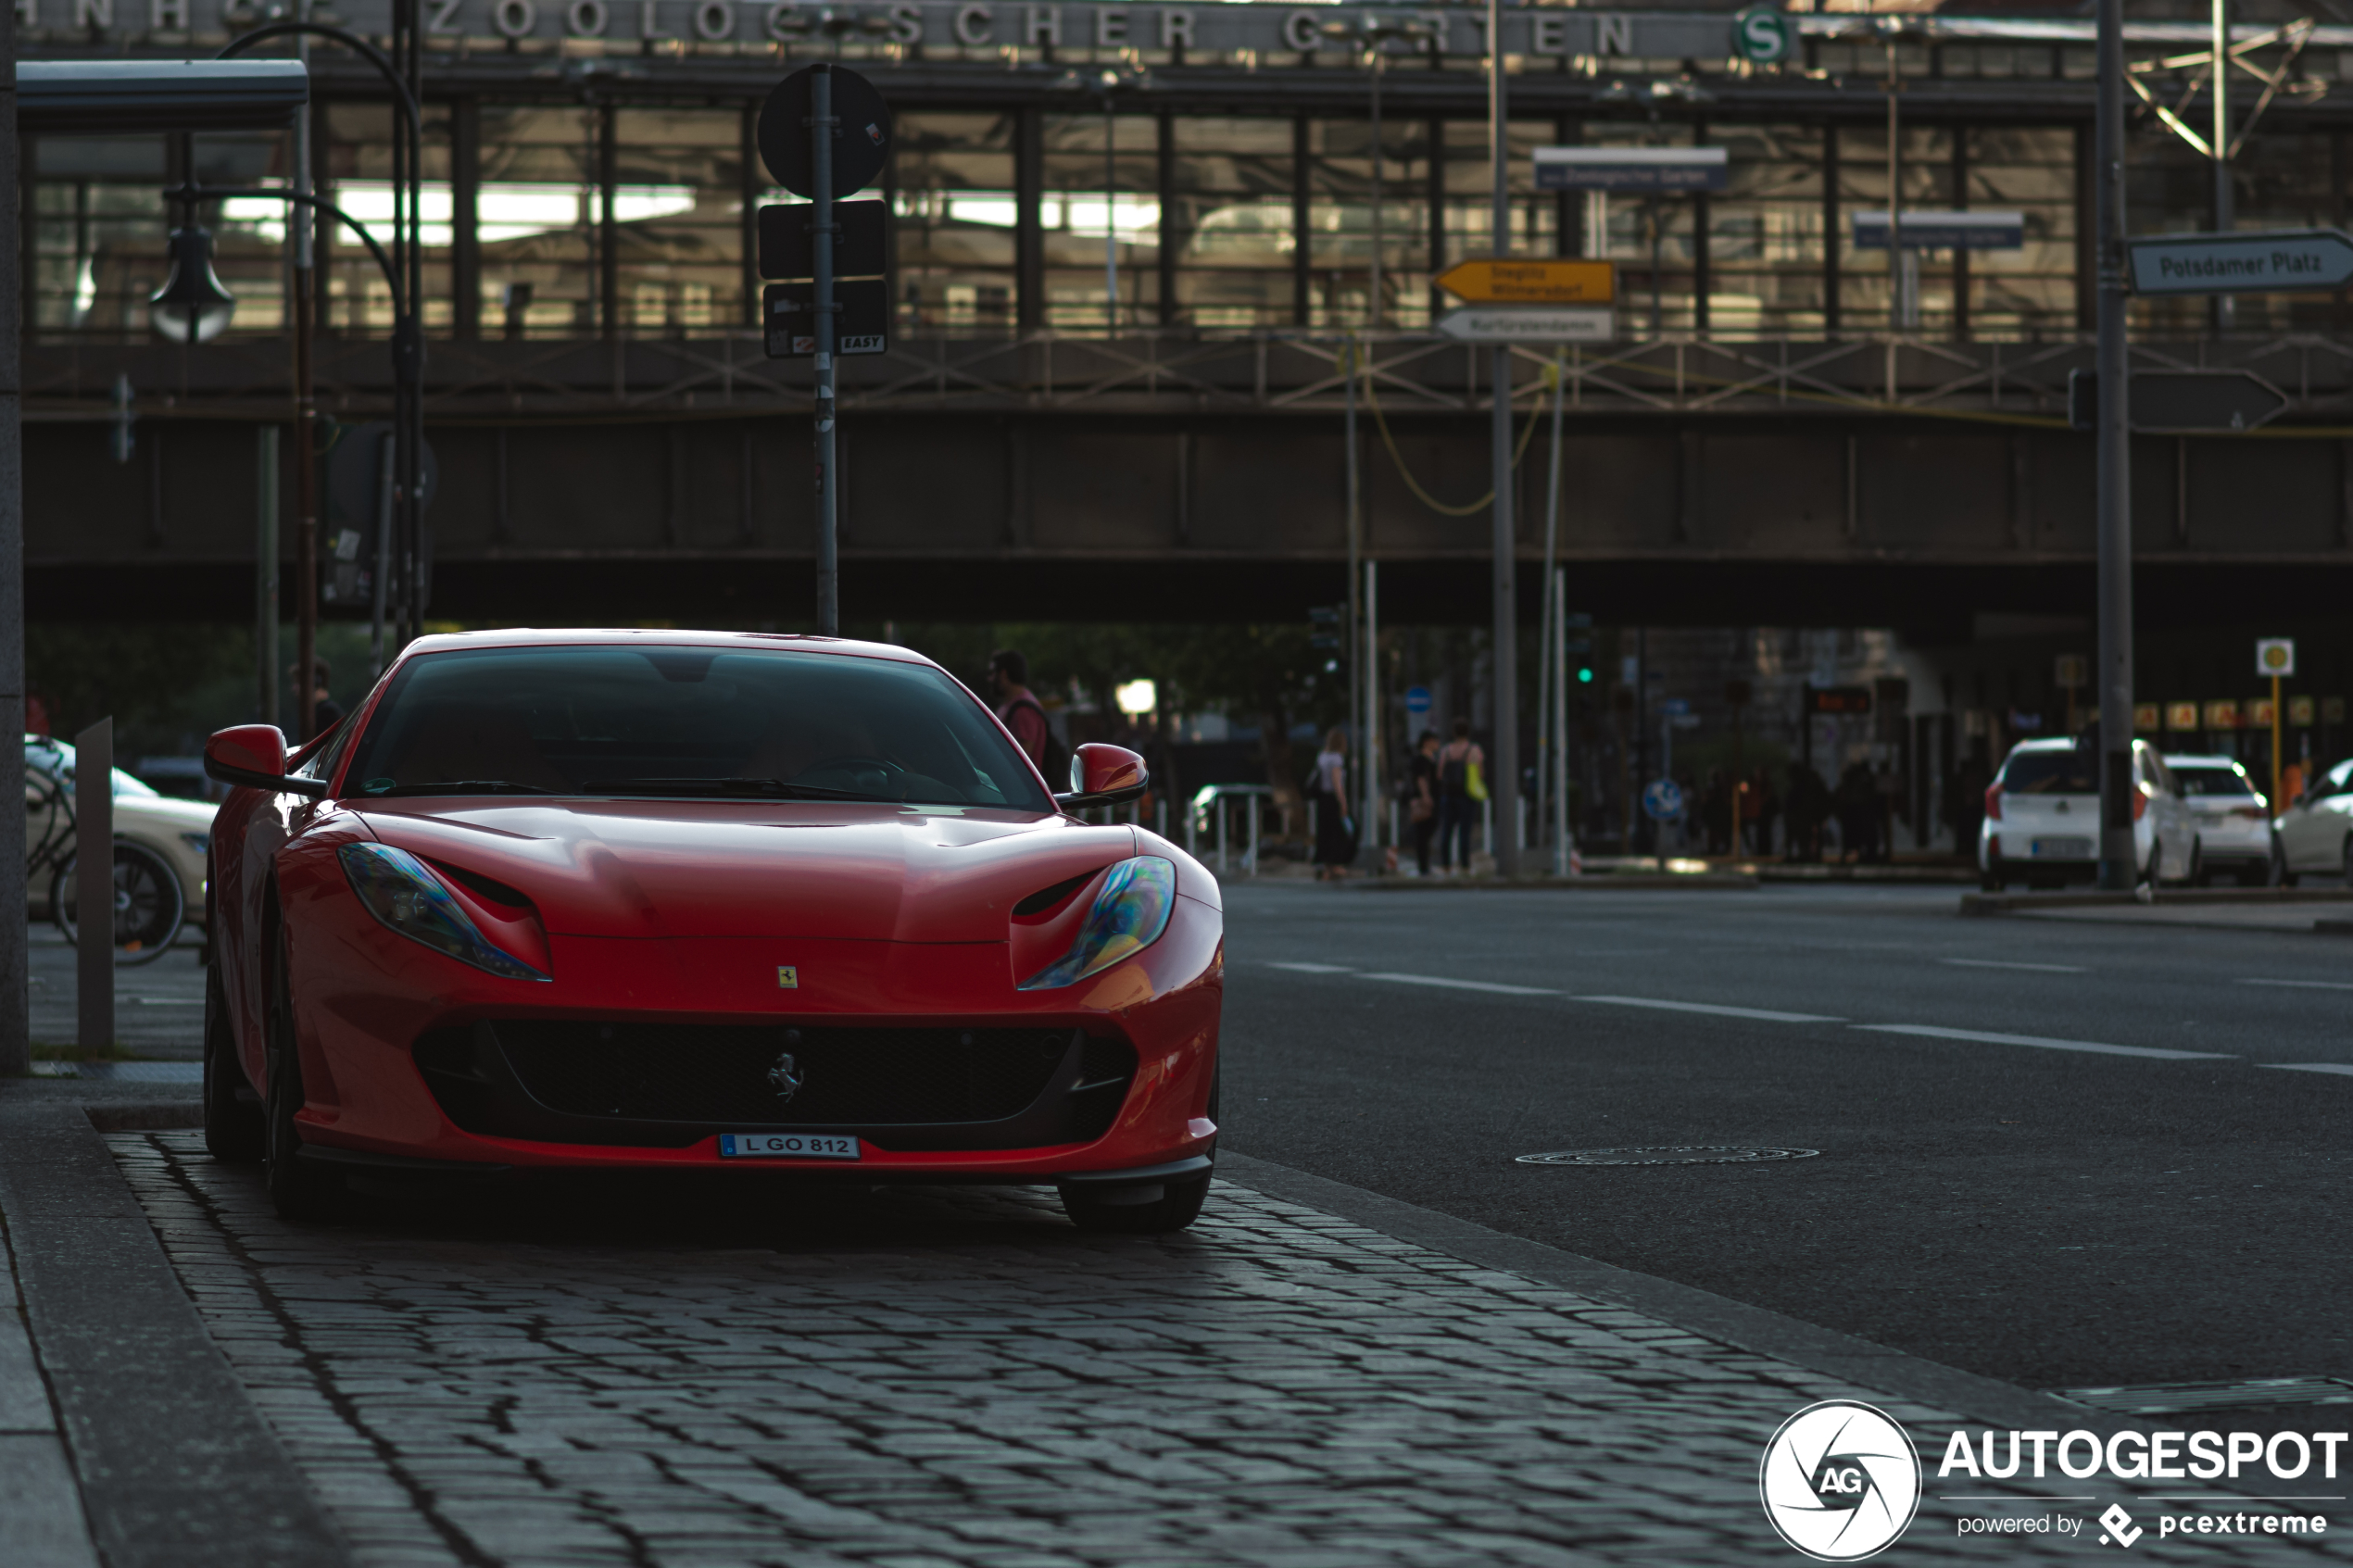
[[[501,1023],[515,1077],[548,1110],[647,1121],[1002,1121],[1071,1030],[793,1030]],[[772,1077],[791,1056],[791,1091]]]

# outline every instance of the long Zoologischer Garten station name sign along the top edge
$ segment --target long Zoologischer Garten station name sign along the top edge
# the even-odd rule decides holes
[[[428,38],[678,42],[678,45],[824,45],[842,12],[861,21],[861,42],[939,49],[1169,49],[1257,54],[1261,59],[1329,54],[1355,61],[1358,47],[1334,40],[1327,24],[1419,21],[1424,40],[1395,52],[1482,54],[1485,14],[1473,7],[1407,7],[1379,14],[1353,5],[1040,5],[1033,0],[878,0],[875,5],[800,5],[795,0],[424,0]],[[339,0],[336,24],[362,35],[393,31],[393,0]],[[82,47],[134,42],[184,49],[191,40],[228,38],[271,19],[266,0],[16,0],[19,42]],[[1744,12],[1755,31],[1755,12]],[[1504,49],[1532,56],[1715,59],[1741,54],[1734,19],[1706,12],[1600,12],[1581,7],[1511,7]]]

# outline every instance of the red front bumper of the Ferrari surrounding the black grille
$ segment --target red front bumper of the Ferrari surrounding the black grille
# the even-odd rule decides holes
[[[1191,898],[1176,900],[1158,943],[1092,980],[1049,992],[1014,990],[998,943],[793,938],[558,936],[551,938],[553,980],[508,980],[376,926],[348,898],[320,898],[304,914],[308,919],[287,922],[308,1103],[299,1124],[301,1138],[320,1150],[445,1166],[1056,1180],[1191,1159],[1214,1147],[1207,1103],[1224,990],[1221,917]],[[795,971],[795,987],[779,987],[781,966]],[[593,1041],[605,1025],[638,1039],[694,1041],[704,1051],[696,1063],[725,1065],[734,1079],[708,1105],[680,1103],[673,1093],[664,1103],[671,1114],[645,1117],[635,1112],[647,1103],[628,1103],[624,1093],[614,1105],[595,1095],[584,1100],[579,1074],[501,1072],[508,1056],[520,1056],[511,1048],[515,1037],[536,1039],[541,1067],[551,1051],[562,1067],[562,1041]],[[833,1053],[828,1072],[864,1065],[868,1077],[887,1077],[894,1067],[880,1058],[856,1063],[864,1039],[936,1044],[958,1032],[1026,1034],[1052,1037],[1059,1056],[1052,1070],[1040,1065],[1028,1103],[1005,1105],[998,1095],[998,1110],[1012,1114],[875,1121],[849,1112],[819,1121],[798,1119],[791,1100],[755,1081],[772,1072],[776,1053],[798,1044],[784,1039],[786,1027],[812,1037],[802,1051],[824,1037]],[[762,1037],[774,1039],[774,1048],[753,1048]],[[711,1041],[725,1048],[706,1051]],[[939,1070],[936,1051],[906,1060]],[[1122,1086],[1108,1081],[1106,1060]],[[452,1077],[452,1070],[466,1077],[473,1067],[480,1067],[473,1088]],[[795,1070],[816,1067],[802,1060]],[[628,1063],[619,1077],[605,1063],[598,1081],[628,1088]],[[868,1093],[866,1105],[875,1103]],[[936,1105],[936,1095],[929,1103]],[[696,1105],[708,1114],[694,1114]],[[800,1105],[816,1105],[816,1095]],[[854,1135],[859,1159],[720,1154],[722,1133],[758,1131]]]

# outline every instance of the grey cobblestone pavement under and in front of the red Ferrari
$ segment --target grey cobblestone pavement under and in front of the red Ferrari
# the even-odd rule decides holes
[[[1784,1418],[1953,1425],[1231,1182],[1165,1239],[748,1182],[289,1227],[193,1133],[108,1143],[369,1568],[1800,1563],[1755,1493]],[[1932,1500],[1882,1561],[2104,1552],[1962,1512],[2000,1507]]]

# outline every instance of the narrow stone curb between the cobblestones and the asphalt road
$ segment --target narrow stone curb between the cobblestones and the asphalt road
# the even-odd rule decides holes
[[[1233,1150],[1221,1147],[1217,1152],[1217,1173],[1238,1187],[1337,1213],[1344,1220],[1377,1229],[1384,1237],[1395,1237],[1398,1241],[1449,1253],[1480,1267],[1541,1279],[1579,1295],[1631,1307],[1633,1312],[1722,1345],[1774,1356],[1777,1361],[1939,1410],[1953,1410],[1955,1415],[1974,1418],[2005,1432],[2033,1432],[2042,1427],[2059,1432],[2108,1432],[2125,1425],[2104,1410],[2087,1410],[2057,1394],[2040,1394],[2021,1389],[2014,1382],[2002,1382],[2000,1378],[1981,1378],[1955,1366],[1925,1361],[1901,1349],[1887,1349],[1885,1345],[1873,1345],[1835,1328],[1819,1328],[1765,1307],[1751,1307],[1713,1291],[1621,1269],[1598,1258],[1581,1258],[1579,1253],[1546,1246],[1544,1241],[1508,1237],[1499,1229],[1438,1213],[1435,1208],[1421,1208],[1266,1159],[1235,1154]]]

